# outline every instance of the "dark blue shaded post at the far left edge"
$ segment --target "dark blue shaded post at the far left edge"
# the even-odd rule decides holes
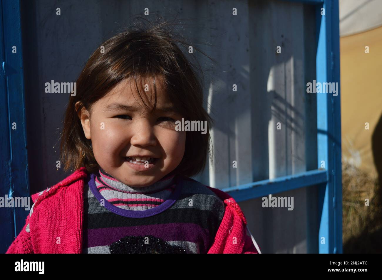
[[[0,126],[2,131],[0,196],[30,199],[24,102],[20,3],[0,0]],[[13,53],[16,47],[16,53]],[[16,128],[16,129],[15,129]],[[30,207],[32,201],[30,200]],[[25,224],[29,210],[1,208],[0,251],[5,253]]]

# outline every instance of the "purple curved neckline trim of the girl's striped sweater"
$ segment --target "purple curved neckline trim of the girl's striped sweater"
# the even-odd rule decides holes
[[[181,188],[182,188],[181,176],[177,176],[175,191],[173,191],[171,193],[171,195],[168,197],[168,199],[165,202],[163,202],[159,206],[156,206],[155,208],[139,211],[139,210],[122,209],[120,207],[117,207],[117,206],[113,205],[109,201],[107,201],[107,199],[105,199],[100,194],[100,192],[98,191],[97,187],[95,186],[95,181],[94,180],[95,180],[95,174],[91,173],[88,185],[89,185],[89,188],[92,191],[93,195],[95,196],[95,198],[97,198],[97,200],[99,202],[101,202],[101,199],[103,199],[104,200],[103,203],[105,204],[105,208],[107,208],[108,210],[112,211],[113,213],[118,214],[120,216],[129,217],[129,218],[151,217],[151,216],[154,216],[156,214],[159,214],[160,212],[163,212],[163,211],[167,210],[179,198],[180,192],[181,192]]]

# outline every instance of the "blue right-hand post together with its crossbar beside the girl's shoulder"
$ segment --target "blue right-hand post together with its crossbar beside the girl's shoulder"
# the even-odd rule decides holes
[[[340,27],[338,0],[285,0],[316,5],[316,82],[338,83],[336,96],[317,93],[317,168],[301,174],[223,189],[238,201],[319,186],[319,253],[342,253]],[[325,14],[321,15],[324,8]]]

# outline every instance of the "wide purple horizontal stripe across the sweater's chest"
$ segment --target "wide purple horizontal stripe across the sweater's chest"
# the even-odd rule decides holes
[[[189,223],[169,223],[157,225],[140,225],[134,227],[110,227],[104,229],[87,230],[87,247],[109,246],[113,242],[125,236],[147,236],[154,235],[165,241],[191,241],[199,243],[201,240],[204,246],[209,246],[209,230],[203,229],[197,224]]]

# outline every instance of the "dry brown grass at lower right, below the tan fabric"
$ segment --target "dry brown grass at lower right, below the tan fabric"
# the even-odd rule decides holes
[[[369,206],[365,200],[369,199]],[[344,253],[382,253],[382,206],[379,180],[342,164]]]

